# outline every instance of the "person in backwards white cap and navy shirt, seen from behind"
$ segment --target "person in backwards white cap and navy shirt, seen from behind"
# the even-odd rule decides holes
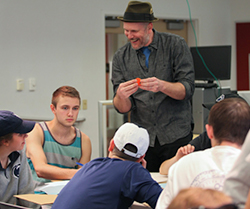
[[[134,201],[155,208],[162,191],[145,169],[146,129],[123,124],[110,142],[109,157],[85,164],[59,193],[52,209],[128,209]]]

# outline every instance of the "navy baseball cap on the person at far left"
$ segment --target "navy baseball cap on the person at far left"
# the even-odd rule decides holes
[[[11,111],[0,110],[0,136],[10,133],[29,133],[35,124],[34,121],[22,120]]]

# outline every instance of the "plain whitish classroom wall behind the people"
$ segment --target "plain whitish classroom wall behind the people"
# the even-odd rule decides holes
[[[105,100],[104,15],[123,15],[127,3],[0,0],[0,109],[51,119],[52,92],[72,85],[88,101],[88,109],[80,111],[80,117],[86,118],[80,128],[91,138],[92,158],[98,157],[98,101]],[[151,3],[157,17],[189,19],[184,0]],[[234,21],[247,19],[249,1],[189,0],[189,4],[192,18],[199,22],[198,44],[232,44],[235,52]],[[235,75],[235,58],[232,72]],[[28,90],[30,77],[36,78],[34,92]],[[15,89],[17,78],[25,82],[21,92]],[[235,89],[235,76],[225,85]]]

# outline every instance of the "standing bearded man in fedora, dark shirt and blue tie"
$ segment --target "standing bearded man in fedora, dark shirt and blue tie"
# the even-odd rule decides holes
[[[192,139],[192,55],[182,37],[153,29],[158,19],[149,2],[130,1],[118,19],[129,43],[113,58],[113,103],[148,130],[147,169],[158,172],[164,160]]]

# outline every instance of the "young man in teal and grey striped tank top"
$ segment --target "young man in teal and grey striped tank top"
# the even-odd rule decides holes
[[[78,162],[90,161],[90,139],[73,126],[80,101],[75,88],[58,88],[50,105],[54,119],[37,123],[30,132],[26,154],[37,186],[50,180],[71,179],[78,171]]]

